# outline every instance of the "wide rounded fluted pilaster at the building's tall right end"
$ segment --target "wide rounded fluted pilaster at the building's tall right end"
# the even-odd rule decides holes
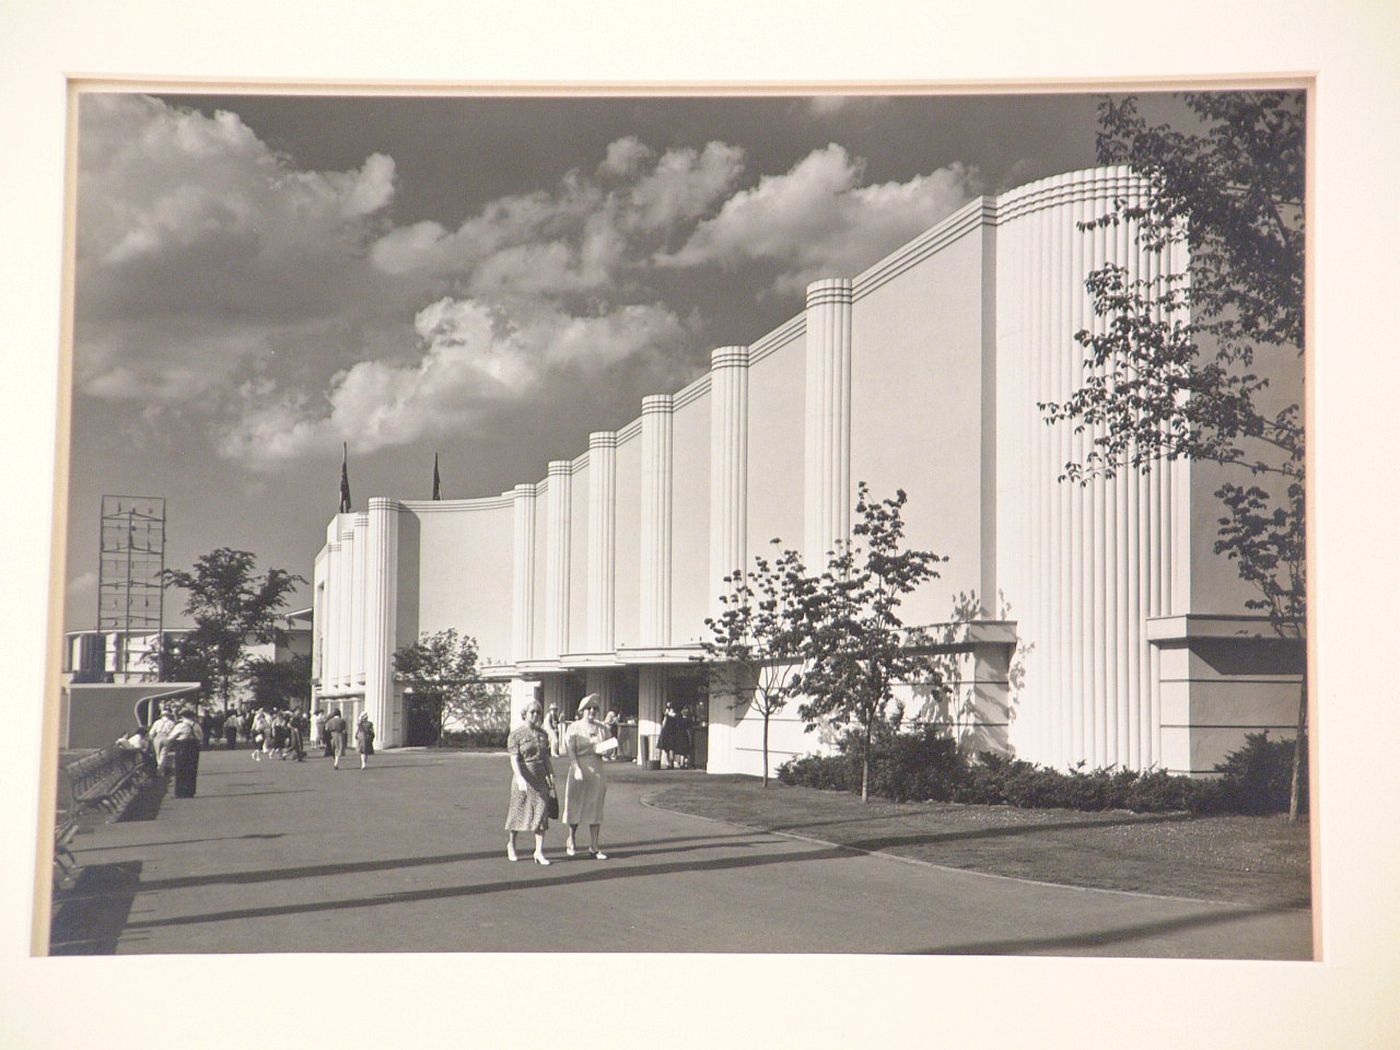
[[[1179,589],[1184,475],[1179,465],[1060,480],[1102,430],[1046,427],[1040,402],[1064,403],[1084,382],[1074,333],[1103,330],[1085,277],[1105,263],[1152,279],[1184,258],[1135,244],[1133,224],[1079,228],[1114,199],[1138,203],[1126,168],[1043,179],[998,200],[998,552],[1036,701],[1018,713],[1018,753],[1071,766],[1142,769],[1161,759],[1161,696],[1148,619]]]

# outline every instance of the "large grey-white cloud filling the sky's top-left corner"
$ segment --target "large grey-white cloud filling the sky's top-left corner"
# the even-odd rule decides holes
[[[204,395],[347,302],[384,293],[364,244],[395,164],[298,169],[234,113],[146,95],[80,111],[76,372],[109,400]]]

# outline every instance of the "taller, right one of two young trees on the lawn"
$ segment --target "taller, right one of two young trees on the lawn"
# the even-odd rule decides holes
[[[899,608],[906,595],[938,577],[946,559],[904,549],[904,490],[875,500],[857,487],[850,543],[839,543],[819,580],[801,594],[792,689],[804,694],[798,714],[811,731],[825,721],[850,727],[862,743],[861,801],[869,801],[871,741],[899,683],[932,683],[938,669],[927,638],[909,630]]]

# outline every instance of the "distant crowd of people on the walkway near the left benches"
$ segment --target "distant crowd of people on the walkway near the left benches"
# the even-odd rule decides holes
[[[269,710],[265,707],[241,711],[200,711],[189,704],[167,701],[150,725],[116,741],[116,746],[140,752],[154,776],[169,778],[175,798],[193,798],[199,785],[199,755],[206,748],[224,741],[228,750],[239,743],[249,746],[255,762],[305,762],[307,741],[321,746],[332,769],[340,769],[340,759],[349,748],[350,728],[339,708],[308,715],[302,710]],[[365,769],[374,755],[374,722],[361,714],[354,727],[360,769]]]

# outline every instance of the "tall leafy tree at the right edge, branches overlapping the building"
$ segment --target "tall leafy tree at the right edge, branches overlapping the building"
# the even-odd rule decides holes
[[[1131,276],[1107,265],[1086,288],[1096,330],[1082,385],[1042,409],[1092,435],[1065,477],[1086,483],[1120,469],[1190,459],[1247,472],[1217,491],[1224,514],[1215,553],[1235,563],[1256,596],[1246,605],[1273,630],[1302,640],[1305,435],[1296,403],[1268,405],[1263,354],[1303,351],[1302,92],[1183,95],[1197,125],[1152,125],[1131,97],[1099,108],[1102,164],[1126,164],[1145,182],[1086,228],[1135,225],[1140,248],[1190,252],[1186,273]],[[1287,364],[1287,361],[1282,361]],[[1263,368],[1267,371],[1267,368]],[[1291,816],[1298,816],[1306,729],[1299,697]]]

